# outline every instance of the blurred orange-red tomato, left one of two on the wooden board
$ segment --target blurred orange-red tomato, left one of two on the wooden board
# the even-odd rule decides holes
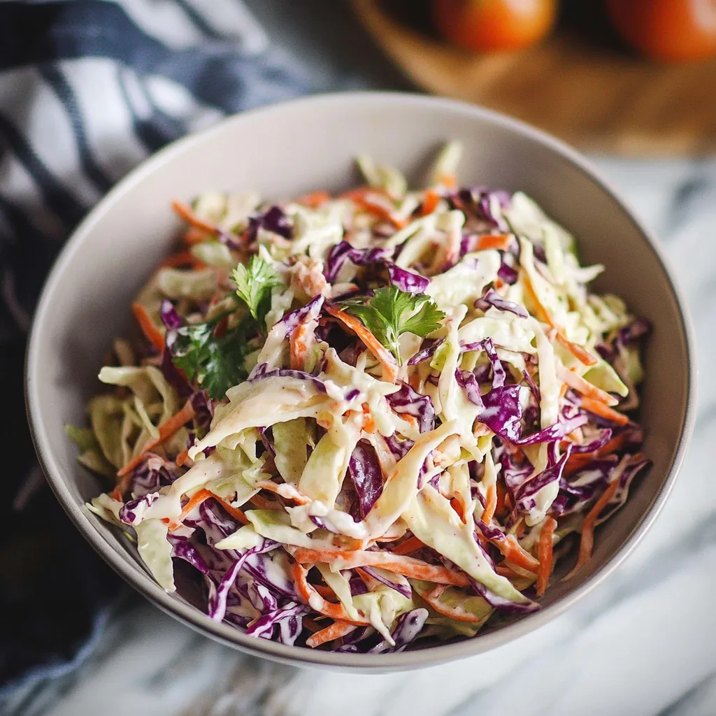
[[[529,47],[551,29],[556,0],[433,0],[442,37],[473,51]]]

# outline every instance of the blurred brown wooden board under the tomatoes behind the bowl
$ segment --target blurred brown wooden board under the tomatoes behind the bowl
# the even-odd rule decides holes
[[[593,152],[716,153],[716,60],[659,65],[556,32],[513,54],[470,55],[352,0],[384,52],[429,92],[505,112]]]

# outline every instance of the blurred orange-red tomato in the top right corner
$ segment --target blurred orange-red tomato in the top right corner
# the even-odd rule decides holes
[[[652,59],[687,61],[716,54],[716,0],[607,0],[619,34]]]

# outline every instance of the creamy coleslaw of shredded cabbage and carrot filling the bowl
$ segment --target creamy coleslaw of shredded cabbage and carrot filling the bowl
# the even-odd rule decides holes
[[[109,485],[87,509],[211,619],[336,652],[473,637],[579,571],[649,465],[649,324],[459,158],[421,190],[362,156],[338,196],[175,202],[181,246],[67,432]]]

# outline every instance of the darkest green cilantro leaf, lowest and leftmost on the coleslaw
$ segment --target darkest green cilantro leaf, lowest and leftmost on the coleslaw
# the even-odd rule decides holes
[[[214,337],[213,324],[196,323],[170,332],[167,346],[176,367],[195,380],[210,397],[221,400],[226,391],[248,376],[244,363],[252,348],[246,336],[246,321]]]

